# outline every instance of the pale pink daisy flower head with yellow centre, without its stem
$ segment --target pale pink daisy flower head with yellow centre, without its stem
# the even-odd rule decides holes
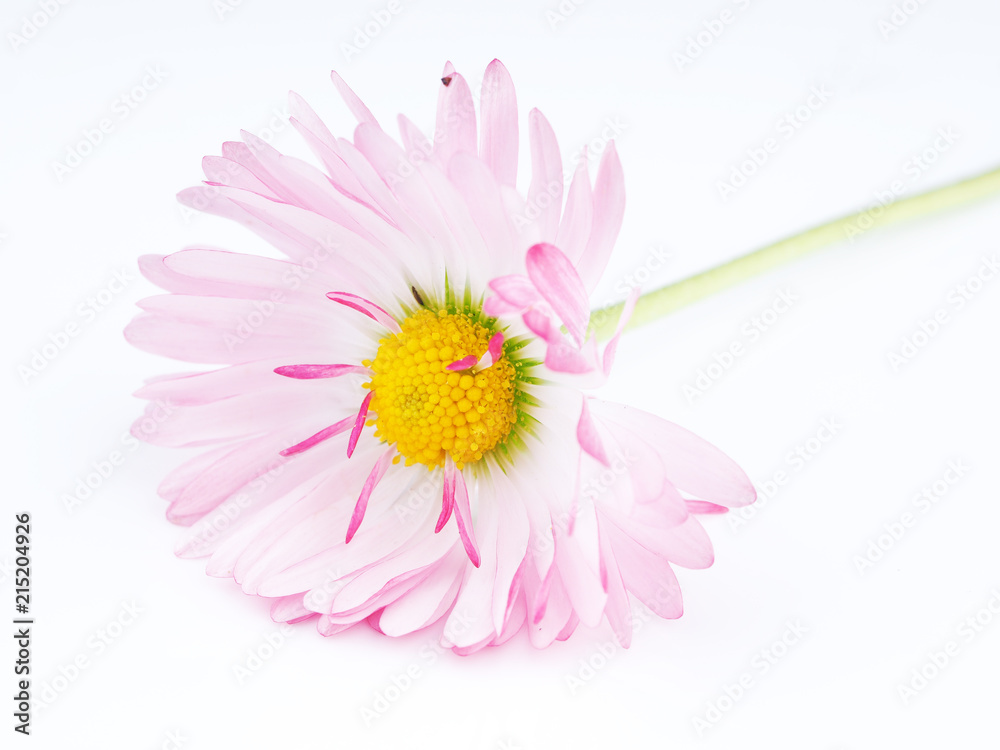
[[[499,61],[478,117],[447,65],[433,136],[400,116],[401,144],[333,82],[353,141],[291,95],[323,169],[244,133],[180,194],[285,259],[141,259],[166,294],[140,303],[128,340],[221,366],[137,393],[150,401],[137,436],[203,448],[159,487],[190,527],[178,554],[270,600],[276,621],[434,626],[460,654],[522,629],[544,647],[605,618],[627,646],[633,599],[679,617],[673,566],[713,561],[697,517],[755,493],[704,440],[590,395],[638,297],[598,344],[588,298],[625,205],[614,143],[593,184],[581,159],[564,195],[555,135],[532,110],[519,192]]]

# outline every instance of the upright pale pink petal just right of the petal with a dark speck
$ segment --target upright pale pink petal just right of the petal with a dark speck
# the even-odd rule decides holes
[[[479,99],[483,118],[479,157],[497,181],[514,186],[517,180],[517,97],[510,73],[499,60],[486,67]]]

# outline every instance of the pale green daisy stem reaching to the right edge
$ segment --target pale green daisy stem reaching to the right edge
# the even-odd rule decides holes
[[[866,208],[850,216],[835,219],[773,245],[754,250],[728,263],[643,294],[636,304],[628,328],[638,328],[658,320],[715,292],[734,286],[782,263],[801,258],[838,240],[850,239],[876,227],[885,227],[906,219],[943,211],[996,192],[1000,192],[1000,168],[920,195],[902,198],[886,206]],[[612,335],[623,304],[619,302],[594,311],[591,330],[598,339],[607,339]]]

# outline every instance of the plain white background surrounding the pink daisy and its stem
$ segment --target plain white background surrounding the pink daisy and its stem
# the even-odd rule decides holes
[[[184,216],[173,196],[240,128],[272,128],[276,146],[304,154],[275,118],[289,89],[348,135],[354,123],[331,68],[387,127],[402,111],[430,130],[445,60],[475,90],[499,57],[522,125],[541,108],[567,163],[617,123],[628,209],[595,303],[648,268],[653,248],[671,258],[641,272],[649,288],[871,205],[896,180],[912,194],[1000,163],[992,0],[910,0],[915,12],[891,32],[879,25],[892,17],[890,0],[586,0],[562,11],[524,0],[399,2],[356,55],[344,45],[385,10],[381,0],[245,0],[231,12],[211,0],[70,2],[23,45],[8,32],[24,33],[41,6],[6,3],[0,600],[11,612],[13,516],[30,512],[33,685],[37,696],[47,684],[54,700],[36,710],[30,739],[3,746],[996,746],[1000,618],[983,608],[1000,609],[991,593],[1000,592],[1000,280],[961,310],[947,301],[998,251],[995,199],[865,233],[629,334],[612,397],[715,442],[758,488],[779,470],[788,481],[766,502],[762,493],[739,528],[710,519],[717,561],[680,571],[684,617],[640,620],[627,652],[605,645],[606,627],[545,651],[517,638],[470,658],[438,653],[427,634],[392,640],[359,627],[324,639],[311,624],[282,634],[263,602],[173,557],[179,531],[155,487],[182,456],[131,450],[121,437],[141,408],[129,394],[185,367],[122,338],[134,301],[154,291],[136,278],[136,258],[193,243],[267,252],[221,219]],[[724,9],[732,16],[721,34],[700,52],[689,47]],[[675,55],[685,48],[699,54],[682,66]],[[122,119],[115,100],[147,66],[166,77]],[[814,86],[831,92],[828,101],[791,137],[777,135]],[[112,132],[60,181],[53,162],[104,117]],[[941,128],[955,142],[914,172]],[[719,181],[775,136],[777,152],[724,200]],[[92,320],[79,316],[122,269],[133,279],[125,290]],[[780,290],[797,301],[748,343],[741,329]],[[948,322],[894,369],[888,353],[940,308]],[[19,366],[70,322],[79,335],[25,382]],[[684,386],[733,341],[746,353],[686,398]],[[793,465],[788,454],[824,419],[837,434]],[[67,493],[115,450],[122,465],[68,509]],[[950,461],[971,468],[922,512],[915,497]],[[883,538],[891,548],[859,571],[883,524],[906,512],[912,528]],[[141,613],[116,625],[133,602]],[[992,621],[960,630],[977,612]],[[760,654],[787,622],[808,632],[765,673]],[[282,645],[241,683],[234,667],[268,636]],[[904,701],[911,670],[950,641],[957,656]],[[68,665],[81,655],[87,666],[73,675]],[[4,695],[13,658],[5,646]],[[407,670],[417,676],[391,689]],[[727,686],[734,693],[745,675],[750,687],[727,701]],[[386,696],[387,710],[376,710]],[[713,721],[710,704],[728,710]],[[366,721],[363,709],[377,718]],[[7,737],[11,713],[9,703],[0,711]],[[699,717],[711,725],[703,733]]]

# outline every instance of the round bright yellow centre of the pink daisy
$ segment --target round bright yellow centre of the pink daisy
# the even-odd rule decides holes
[[[366,388],[375,436],[395,443],[409,466],[456,465],[480,460],[506,440],[517,421],[515,370],[501,356],[489,368],[449,372],[446,368],[487,350],[492,331],[462,313],[422,309],[401,324],[402,331],[379,342]]]

